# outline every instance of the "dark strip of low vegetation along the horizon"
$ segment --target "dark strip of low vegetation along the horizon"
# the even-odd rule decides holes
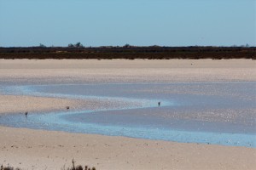
[[[68,47],[0,48],[0,59],[256,59],[256,47]]]

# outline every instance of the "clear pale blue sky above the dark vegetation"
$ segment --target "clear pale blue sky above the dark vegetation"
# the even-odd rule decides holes
[[[256,0],[0,0],[0,46],[256,46]]]

